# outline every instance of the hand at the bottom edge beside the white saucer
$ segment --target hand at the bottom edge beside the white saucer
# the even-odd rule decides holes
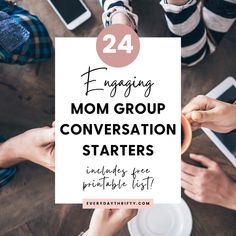
[[[137,212],[132,209],[95,209],[87,235],[114,236]]]

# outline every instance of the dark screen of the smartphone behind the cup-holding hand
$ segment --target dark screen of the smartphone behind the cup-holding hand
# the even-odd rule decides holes
[[[218,97],[217,100],[228,102],[231,104],[236,104],[236,87],[231,86],[220,97]],[[236,158],[236,130],[233,130],[232,132],[227,134],[221,134],[216,132],[214,133]]]

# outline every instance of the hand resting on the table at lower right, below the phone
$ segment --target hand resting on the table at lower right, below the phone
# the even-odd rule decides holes
[[[184,193],[195,201],[215,204],[236,210],[236,183],[220,166],[205,156],[190,154],[190,158],[204,167],[182,161],[181,185]]]

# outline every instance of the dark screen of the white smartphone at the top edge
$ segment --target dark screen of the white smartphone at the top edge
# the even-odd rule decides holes
[[[78,16],[86,12],[86,8],[79,0],[50,0],[60,13],[64,21],[69,24]]]

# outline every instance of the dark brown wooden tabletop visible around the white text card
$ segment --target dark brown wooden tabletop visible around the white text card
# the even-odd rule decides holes
[[[96,0],[86,1],[93,17],[73,32],[65,29],[46,0],[20,2],[40,16],[53,38],[97,36],[103,28],[102,11]],[[140,36],[167,36],[158,1],[134,1],[134,9],[140,17]],[[236,78],[235,55],[234,25],[214,55],[194,68],[183,68],[182,105],[193,96],[207,93],[227,76]],[[54,120],[54,59],[24,67],[0,65],[0,111],[0,133],[6,137],[51,123]],[[236,181],[235,168],[201,131],[194,134],[189,152],[216,160]],[[185,158],[188,159],[188,153]],[[236,235],[235,211],[200,204],[185,195],[183,198],[193,215],[193,236]],[[80,205],[55,205],[54,175],[31,163],[20,164],[14,180],[0,190],[0,205],[0,235],[4,236],[76,236],[88,227],[92,214]],[[127,228],[119,235],[128,236]]]

